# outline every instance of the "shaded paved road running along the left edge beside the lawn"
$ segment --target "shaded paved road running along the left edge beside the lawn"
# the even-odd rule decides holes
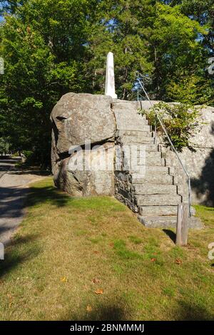
[[[10,242],[11,235],[24,217],[27,184],[42,177],[15,168],[17,160],[0,160],[0,242]]]

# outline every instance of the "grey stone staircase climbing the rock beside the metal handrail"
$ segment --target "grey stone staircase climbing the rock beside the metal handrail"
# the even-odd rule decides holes
[[[166,165],[161,148],[137,102],[115,100],[116,198],[125,203],[147,227],[175,227],[178,203],[188,200],[178,194],[173,168]],[[200,227],[191,217],[189,227]]]

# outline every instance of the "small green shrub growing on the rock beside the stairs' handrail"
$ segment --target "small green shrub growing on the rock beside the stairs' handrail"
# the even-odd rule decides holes
[[[190,138],[200,128],[199,110],[192,105],[186,103],[158,103],[156,106],[156,113],[161,118],[165,129],[175,146],[175,149],[182,151],[183,148],[188,147],[193,150],[193,143],[190,143]],[[157,125],[158,131],[163,131],[161,124],[156,118],[156,113],[151,108],[150,110],[143,110],[141,113],[146,114],[151,125]],[[170,146],[168,138],[163,133],[163,140],[165,145]]]

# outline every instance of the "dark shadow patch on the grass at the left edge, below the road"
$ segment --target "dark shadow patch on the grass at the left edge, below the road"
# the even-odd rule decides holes
[[[38,235],[32,234],[15,237],[11,241],[10,246],[6,248],[4,260],[0,262],[0,278],[14,271],[19,264],[34,259],[41,252],[38,244],[34,243],[38,238]]]

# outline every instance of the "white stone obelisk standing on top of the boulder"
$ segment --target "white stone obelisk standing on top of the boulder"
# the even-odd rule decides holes
[[[113,53],[109,52],[106,63],[106,96],[111,96],[113,99],[117,99],[118,96],[115,93],[115,80],[114,80],[114,66],[113,66]]]

